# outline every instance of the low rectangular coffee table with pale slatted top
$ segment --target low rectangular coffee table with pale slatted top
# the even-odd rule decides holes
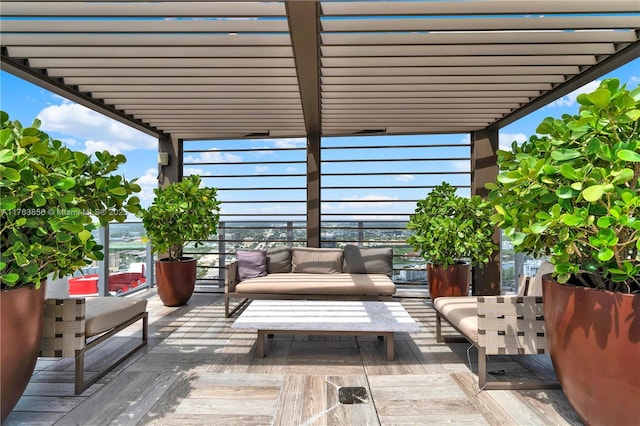
[[[264,358],[268,334],[384,336],[387,359],[394,358],[394,333],[420,327],[399,302],[254,300],[231,325],[258,330],[257,355]]]

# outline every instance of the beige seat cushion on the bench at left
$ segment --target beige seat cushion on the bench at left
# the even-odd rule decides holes
[[[130,320],[147,309],[147,300],[136,297],[89,297],[85,308],[85,333],[95,336]]]

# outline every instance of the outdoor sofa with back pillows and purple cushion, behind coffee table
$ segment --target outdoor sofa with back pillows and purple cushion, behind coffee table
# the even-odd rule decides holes
[[[252,299],[390,300],[393,250],[276,247],[238,250],[226,265],[224,301],[229,318]],[[230,299],[242,302],[230,310]]]

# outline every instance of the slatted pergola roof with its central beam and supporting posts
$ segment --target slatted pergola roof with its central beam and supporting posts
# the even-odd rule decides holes
[[[307,139],[308,245],[320,138],[469,133],[472,192],[498,130],[640,57],[637,0],[3,1],[2,69],[158,137]],[[498,259],[479,294],[499,289]]]

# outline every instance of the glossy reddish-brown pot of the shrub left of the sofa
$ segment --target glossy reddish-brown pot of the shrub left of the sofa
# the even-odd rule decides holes
[[[178,261],[156,261],[158,296],[165,306],[182,306],[189,301],[196,286],[197,260],[183,257]]]

